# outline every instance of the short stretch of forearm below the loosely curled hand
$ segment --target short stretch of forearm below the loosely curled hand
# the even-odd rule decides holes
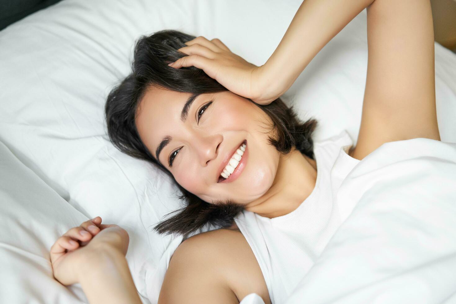
[[[100,254],[81,270],[80,281],[89,303],[142,304],[122,253]]]

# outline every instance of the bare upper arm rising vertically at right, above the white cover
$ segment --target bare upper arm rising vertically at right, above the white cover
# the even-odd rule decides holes
[[[440,140],[429,0],[375,0],[367,10],[368,71],[358,143],[363,159],[384,143]]]

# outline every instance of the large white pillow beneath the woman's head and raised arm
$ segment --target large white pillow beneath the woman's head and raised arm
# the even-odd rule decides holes
[[[217,37],[261,65],[300,4],[64,0],[0,32],[0,140],[84,216],[102,216],[129,232],[130,269],[138,291],[151,303],[157,301],[169,259],[182,240],[159,236],[152,227],[181,202],[176,186],[160,170],[109,143],[105,98],[130,72],[133,46],[141,35],[176,29]],[[456,142],[451,121],[456,57],[436,44],[435,58],[440,133],[442,140]],[[284,95],[301,118],[319,119],[316,140],[342,129],[356,140],[366,67],[363,11]]]

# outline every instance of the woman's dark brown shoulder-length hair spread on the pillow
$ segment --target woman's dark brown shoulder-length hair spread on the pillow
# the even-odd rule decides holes
[[[201,69],[175,69],[168,66],[168,63],[187,56],[177,50],[194,38],[195,36],[173,30],[158,31],[151,36],[140,37],[135,46],[131,74],[113,88],[105,105],[108,135],[114,146],[128,155],[158,165],[174,180],[181,191],[178,197],[185,201],[186,206],[171,212],[168,218],[158,223],[154,229],[159,233],[186,235],[206,224],[229,227],[233,224],[234,217],[244,209],[234,201],[208,203],[184,189],[176,182],[170,171],[151,155],[136,129],[138,104],[150,86],[192,94],[227,91]],[[254,103],[252,100],[250,102]],[[269,131],[274,136],[269,137],[269,144],[282,154],[287,154],[296,147],[302,154],[313,159],[311,135],[316,128],[315,119],[301,122],[293,108],[288,107],[280,98],[265,106],[254,104],[272,120],[273,124]]]

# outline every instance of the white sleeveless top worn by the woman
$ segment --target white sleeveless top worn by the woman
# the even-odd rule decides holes
[[[339,206],[336,194],[359,163],[347,154],[352,144],[345,130],[314,143],[315,188],[294,211],[268,218],[244,210],[235,218],[263,272],[272,303],[285,303],[350,214],[352,206]]]

